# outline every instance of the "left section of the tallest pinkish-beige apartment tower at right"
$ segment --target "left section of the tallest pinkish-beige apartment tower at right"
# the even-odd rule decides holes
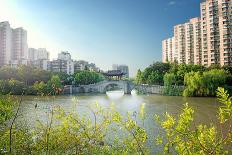
[[[217,0],[201,3],[202,65],[220,63],[219,8]]]

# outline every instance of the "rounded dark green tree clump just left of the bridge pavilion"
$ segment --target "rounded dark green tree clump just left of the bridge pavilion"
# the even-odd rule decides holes
[[[103,80],[104,77],[102,74],[87,70],[77,72],[75,75],[75,81],[78,85],[89,85],[98,83]]]

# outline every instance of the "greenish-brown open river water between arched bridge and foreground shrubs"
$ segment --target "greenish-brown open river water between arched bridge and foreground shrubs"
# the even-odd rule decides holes
[[[108,95],[108,96],[107,96]],[[66,112],[78,111],[81,115],[92,117],[91,112],[86,106],[93,106],[99,103],[104,108],[114,104],[116,110],[122,114],[126,112],[139,112],[141,104],[145,104],[145,128],[149,134],[149,147],[152,152],[156,153],[153,138],[160,132],[159,126],[154,122],[154,114],[162,115],[169,112],[173,115],[180,113],[183,104],[189,103],[195,110],[196,122],[205,124],[215,123],[217,120],[217,108],[219,103],[216,98],[184,98],[169,97],[159,95],[123,95],[120,92],[109,92],[107,95],[77,95],[77,96],[57,96],[57,97],[35,97],[25,96],[21,107],[20,120],[34,125],[36,120],[45,121],[49,110],[54,106],[61,106]],[[76,98],[74,100],[73,98]],[[35,105],[37,108],[35,109]],[[78,106],[76,106],[78,105]],[[154,149],[155,148],[155,149]]]

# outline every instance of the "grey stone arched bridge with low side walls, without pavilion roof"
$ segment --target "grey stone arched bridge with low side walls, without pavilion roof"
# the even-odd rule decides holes
[[[66,86],[65,94],[77,93],[105,93],[111,86],[116,86],[118,89],[124,90],[125,94],[130,94],[133,89],[143,93],[162,94],[164,86],[159,85],[135,85],[130,81],[102,81],[96,84],[81,85],[81,86]]]

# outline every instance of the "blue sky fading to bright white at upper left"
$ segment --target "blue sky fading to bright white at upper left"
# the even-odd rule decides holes
[[[26,29],[29,47],[103,70],[126,64],[132,77],[162,60],[174,25],[199,15],[200,0],[0,0],[0,22]]]

